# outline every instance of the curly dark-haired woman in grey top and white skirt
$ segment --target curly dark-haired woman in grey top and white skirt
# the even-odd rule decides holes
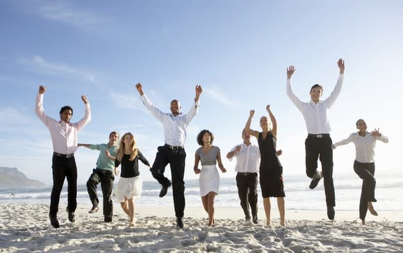
[[[194,167],[195,174],[200,174],[201,202],[204,210],[208,213],[208,227],[214,224],[214,198],[218,194],[220,186],[220,175],[216,167],[217,162],[222,173],[227,172],[222,165],[220,148],[211,145],[213,140],[214,135],[208,130],[202,130],[197,135],[197,143],[201,147],[196,150]],[[201,162],[201,169],[198,168],[199,161]]]

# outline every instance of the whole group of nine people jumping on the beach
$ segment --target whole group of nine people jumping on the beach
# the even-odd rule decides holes
[[[293,104],[301,111],[306,122],[308,137],[305,141],[306,148],[306,175],[311,178],[309,188],[315,188],[320,179],[324,179],[324,192],[327,203],[327,216],[329,220],[334,220],[335,194],[333,183],[333,149],[339,145],[354,142],[356,145],[356,159],[354,161],[354,171],[363,179],[360,218],[365,224],[365,215],[369,209],[372,215],[377,215],[372,202],[375,199],[375,142],[381,140],[388,142],[388,138],[375,129],[372,133],[367,131],[364,120],[356,122],[358,133],[352,133],[349,138],[340,142],[332,143],[330,138],[330,124],[327,118],[327,111],[334,104],[340,94],[344,79],[344,60],[338,60],[340,75],[334,91],[325,99],[320,100],[323,88],[321,85],[312,86],[309,94],[311,101],[302,102],[293,93],[291,77],[295,72],[295,67],[287,68],[286,93]],[[54,185],[51,191],[51,204],[49,209],[49,219],[53,227],[60,227],[57,213],[60,199],[60,192],[63,183],[67,178],[68,197],[67,213],[70,222],[74,222],[76,210],[76,186],[77,168],[74,159],[74,152],[77,148],[87,147],[99,150],[97,168],[90,175],[87,182],[88,195],[92,202],[92,209],[89,213],[99,211],[99,199],[97,197],[97,185],[101,183],[101,190],[104,195],[103,212],[104,221],[111,222],[113,217],[112,196],[120,202],[123,211],[129,216],[129,227],[135,222],[135,202],[136,197],[140,197],[142,191],[142,179],[138,170],[138,160],[149,166],[154,179],[161,184],[159,197],[167,194],[168,188],[172,186],[174,199],[174,211],[176,216],[176,226],[183,228],[183,213],[185,209],[185,183],[183,176],[185,172],[186,152],[184,145],[187,137],[188,124],[195,117],[199,110],[199,97],[202,93],[200,85],[195,87],[195,100],[188,113],[181,113],[181,104],[174,99],[170,103],[171,113],[163,113],[156,108],[142,90],[142,84],[135,85],[145,107],[158,121],[163,124],[164,145],[158,147],[158,152],[154,163],[151,166],[149,161],[138,149],[132,133],[125,133],[119,140],[119,134],[115,131],[109,135],[107,144],[90,145],[78,142],[77,133],[83,129],[85,124],[91,120],[90,104],[87,97],[81,99],[85,105],[84,117],[76,123],[70,123],[73,109],[64,106],[60,109],[60,120],[54,120],[44,113],[43,97],[46,88],[40,85],[39,93],[35,104],[35,113],[47,126],[51,133],[54,153],[52,157],[52,172]],[[258,223],[257,206],[257,183],[260,182],[263,197],[263,206],[266,216],[266,224],[270,225],[270,197],[277,197],[277,206],[280,213],[280,225],[285,226],[285,202],[283,167],[279,161],[281,150],[277,150],[277,120],[274,117],[270,105],[266,107],[269,117],[263,116],[260,119],[262,131],[250,129],[254,110],[250,111],[249,117],[242,130],[243,142],[236,145],[227,154],[231,161],[236,157],[236,184],[240,198],[240,206],[245,213],[245,222]],[[258,145],[252,144],[251,136],[256,137]],[[220,148],[213,146],[214,135],[211,131],[204,129],[197,135],[197,143],[201,146],[195,152],[194,172],[199,174],[199,187],[201,202],[206,213],[208,213],[208,226],[213,226],[214,220],[214,199],[219,193],[220,176],[217,170],[227,172],[222,165]],[[318,158],[322,163],[322,171],[318,170]],[[165,167],[170,164],[171,180],[165,177]],[[201,163],[201,168],[199,168]],[[119,172],[117,168],[121,166]],[[120,174],[120,181],[113,190],[115,175]],[[259,177],[258,177],[259,175]]]

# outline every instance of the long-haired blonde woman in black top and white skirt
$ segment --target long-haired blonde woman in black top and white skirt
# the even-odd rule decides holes
[[[122,165],[122,168],[119,182],[114,190],[114,195],[117,202],[120,202],[123,211],[129,215],[129,227],[134,227],[134,199],[141,196],[142,190],[138,160],[150,167],[149,161],[147,161],[138,149],[133,134],[125,133],[120,140],[115,160],[116,175],[119,174],[117,167]]]

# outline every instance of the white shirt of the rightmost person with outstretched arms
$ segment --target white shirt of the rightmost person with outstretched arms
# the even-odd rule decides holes
[[[365,136],[360,136],[359,133],[352,133],[347,139],[340,140],[334,143],[334,146],[346,145],[349,142],[354,142],[356,146],[356,161],[360,163],[374,163],[375,162],[375,142],[389,142],[388,137],[372,136],[372,133],[366,133]]]

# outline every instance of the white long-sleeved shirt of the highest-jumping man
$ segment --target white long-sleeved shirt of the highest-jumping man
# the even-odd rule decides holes
[[[331,106],[334,104],[334,101],[336,101],[338,95],[340,94],[343,79],[344,74],[340,74],[338,76],[336,86],[334,87],[333,92],[331,92],[331,95],[324,101],[318,101],[318,104],[315,104],[312,100],[308,103],[300,101],[293,92],[291,79],[287,79],[287,95],[304,116],[306,130],[308,133],[330,133],[331,127],[327,118],[327,111],[329,108],[331,108]]]

